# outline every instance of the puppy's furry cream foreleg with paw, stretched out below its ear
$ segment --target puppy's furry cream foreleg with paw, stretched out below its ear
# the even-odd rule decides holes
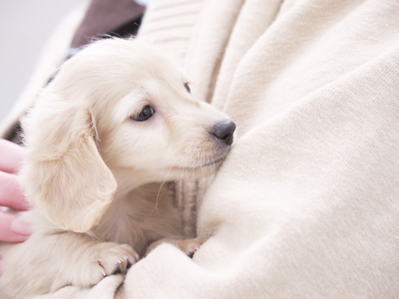
[[[54,292],[66,285],[90,287],[138,260],[129,245],[66,231],[33,234],[1,254],[0,289],[10,298]]]

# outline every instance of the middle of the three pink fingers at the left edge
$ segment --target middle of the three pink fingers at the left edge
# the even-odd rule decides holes
[[[0,206],[17,210],[30,209],[16,175],[0,171]]]

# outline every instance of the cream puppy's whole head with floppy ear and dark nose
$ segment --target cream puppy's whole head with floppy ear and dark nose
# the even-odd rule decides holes
[[[63,229],[98,223],[116,190],[215,170],[234,123],[191,94],[171,60],[137,40],[107,39],[61,67],[23,120],[21,172],[33,205]]]

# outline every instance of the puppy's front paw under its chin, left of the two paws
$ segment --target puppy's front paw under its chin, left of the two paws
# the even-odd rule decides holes
[[[100,243],[95,246],[88,267],[82,267],[83,275],[76,284],[93,286],[108,275],[125,273],[138,259],[138,254],[127,244]]]

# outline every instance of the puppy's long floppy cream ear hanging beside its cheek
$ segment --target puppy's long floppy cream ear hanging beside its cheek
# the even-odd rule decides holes
[[[50,221],[73,232],[96,225],[116,190],[82,102],[44,90],[22,121],[27,157],[21,180],[27,197]]]

